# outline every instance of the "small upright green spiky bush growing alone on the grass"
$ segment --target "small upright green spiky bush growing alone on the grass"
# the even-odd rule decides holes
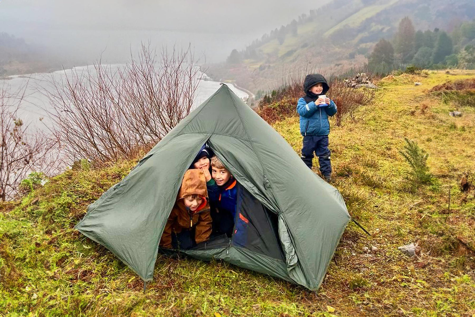
[[[411,178],[415,183],[427,184],[431,181],[432,175],[429,173],[427,166],[427,158],[429,154],[419,148],[416,141],[411,141],[404,138],[406,144],[403,150],[399,150],[399,153],[406,159],[411,167]]]

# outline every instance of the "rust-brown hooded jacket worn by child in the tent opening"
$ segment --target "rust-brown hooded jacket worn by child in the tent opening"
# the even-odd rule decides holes
[[[197,194],[203,198],[201,205],[195,211],[187,210],[183,203],[183,198]],[[180,192],[177,201],[171,210],[167,224],[161,235],[160,247],[172,249],[171,233],[180,233],[182,230],[190,230],[195,227],[195,242],[200,243],[209,240],[211,234],[211,215],[209,213],[208,191],[206,189],[206,179],[200,169],[189,169],[186,171],[181,182]]]

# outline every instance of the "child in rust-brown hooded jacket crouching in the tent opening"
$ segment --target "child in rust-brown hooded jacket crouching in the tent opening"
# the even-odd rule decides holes
[[[187,170],[161,235],[161,248],[187,250],[209,240],[212,219],[207,198],[203,172],[200,169]]]

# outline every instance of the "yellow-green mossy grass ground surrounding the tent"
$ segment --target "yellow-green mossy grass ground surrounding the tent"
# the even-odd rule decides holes
[[[458,106],[463,116],[450,117],[456,104],[428,90],[474,74],[385,78],[373,103],[332,126],[334,185],[372,235],[348,226],[318,292],[221,261],[159,255],[144,295],[136,274],[72,229],[134,165],[123,162],[68,170],[1,205],[0,315],[472,317],[475,188],[463,192],[459,183],[465,171],[475,182],[475,107]],[[274,128],[298,153],[298,118]],[[429,154],[429,184],[408,179],[404,137]],[[413,258],[397,249],[410,242],[418,244]]]

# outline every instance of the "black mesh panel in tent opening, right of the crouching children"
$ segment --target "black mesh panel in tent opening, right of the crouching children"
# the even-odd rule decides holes
[[[277,215],[264,207],[243,186],[237,187],[233,246],[285,261],[277,231]]]

